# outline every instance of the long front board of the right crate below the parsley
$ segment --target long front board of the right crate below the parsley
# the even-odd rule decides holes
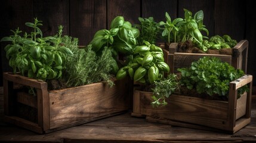
[[[187,123],[223,129],[227,120],[227,102],[203,100],[195,97],[171,95],[166,107],[153,108],[152,92],[140,93],[140,113],[162,120],[176,120]]]

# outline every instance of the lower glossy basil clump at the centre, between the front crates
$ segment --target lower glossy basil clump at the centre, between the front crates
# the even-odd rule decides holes
[[[124,67],[118,70],[116,79],[126,76],[143,84],[153,84],[169,72],[169,66],[164,62],[164,54],[159,46],[144,41],[145,45],[136,46]]]

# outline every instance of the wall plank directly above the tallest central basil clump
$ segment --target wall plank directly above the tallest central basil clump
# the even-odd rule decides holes
[[[107,27],[110,28],[110,23],[113,18],[123,16],[125,21],[131,24],[138,23],[140,14],[140,1],[137,0],[108,0],[107,1]]]

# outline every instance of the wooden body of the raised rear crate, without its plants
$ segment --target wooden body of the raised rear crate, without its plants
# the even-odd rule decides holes
[[[232,48],[232,55],[220,54],[196,54],[177,52],[178,43],[171,43],[167,46],[165,43],[159,43],[163,49],[165,62],[170,67],[170,73],[177,73],[177,69],[181,67],[190,67],[193,61],[205,56],[218,57],[221,61],[231,64],[236,69],[242,69],[247,73],[247,57],[248,57],[248,41],[242,40]]]

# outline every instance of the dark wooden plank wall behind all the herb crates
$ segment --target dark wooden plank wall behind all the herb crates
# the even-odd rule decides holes
[[[138,17],[154,17],[165,21],[167,11],[171,18],[184,17],[183,8],[192,11],[203,10],[204,24],[209,36],[228,34],[233,39],[249,41],[247,73],[254,76],[256,85],[256,15],[252,1],[232,0],[8,0],[0,4],[0,38],[9,36],[10,29],[24,26],[27,21],[38,17],[43,21],[44,36],[55,35],[58,26],[64,26],[64,34],[79,38],[79,45],[87,45],[97,30],[108,29],[110,21],[118,15],[132,24]],[[1,84],[2,72],[10,71],[1,43]]]

